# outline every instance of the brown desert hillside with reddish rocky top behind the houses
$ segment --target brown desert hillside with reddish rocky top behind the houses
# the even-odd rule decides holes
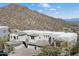
[[[0,25],[10,28],[34,30],[62,30],[64,21],[37,11],[30,10],[19,4],[9,4],[0,8]]]

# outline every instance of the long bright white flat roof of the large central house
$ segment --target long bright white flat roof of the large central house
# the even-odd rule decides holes
[[[64,36],[64,37],[71,37],[77,36],[77,33],[72,32],[54,32],[54,31],[39,31],[39,30],[24,30],[19,31],[13,34],[17,34],[18,36],[28,35],[28,36],[39,36],[40,34],[52,35],[52,36]]]

